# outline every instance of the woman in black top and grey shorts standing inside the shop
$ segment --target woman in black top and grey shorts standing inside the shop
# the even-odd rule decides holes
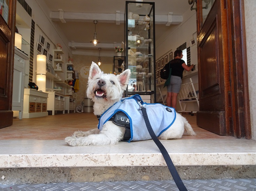
[[[174,59],[168,63],[170,64],[169,67],[171,68],[171,78],[169,85],[167,85],[166,103],[167,106],[173,107],[174,109],[176,108],[177,96],[182,84],[183,71],[184,69],[190,71],[194,67],[194,64],[192,64],[191,66],[187,66],[182,58],[182,51],[176,50],[174,52]]]

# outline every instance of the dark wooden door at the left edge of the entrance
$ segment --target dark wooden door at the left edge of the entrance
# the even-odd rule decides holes
[[[13,124],[11,102],[16,0],[6,0],[0,15],[0,128],[3,128]]]

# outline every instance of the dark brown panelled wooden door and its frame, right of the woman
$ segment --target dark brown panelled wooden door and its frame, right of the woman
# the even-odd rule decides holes
[[[197,125],[220,135],[250,138],[243,1],[210,1],[206,19],[202,17],[205,1],[197,1]]]

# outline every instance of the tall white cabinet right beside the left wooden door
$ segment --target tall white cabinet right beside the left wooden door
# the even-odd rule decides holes
[[[19,119],[22,119],[23,115],[24,70],[26,60],[29,60],[29,57],[15,47],[12,110],[19,111]]]

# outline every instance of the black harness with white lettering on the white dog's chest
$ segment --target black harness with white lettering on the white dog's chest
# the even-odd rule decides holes
[[[100,121],[100,116],[101,115],[97,115],[97,119],[99,121]],[[112,121],[114,124],[125,128],[123,140],[131,139],[130,120],[124,112],[122,112],[122,111],[117,112],[109,119],[109,121]]]

